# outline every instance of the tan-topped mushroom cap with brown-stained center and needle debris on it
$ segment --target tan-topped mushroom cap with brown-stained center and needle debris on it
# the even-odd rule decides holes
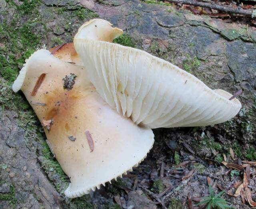
[[[70,51],[72,44],[54,55],[79,63],[75,53],[66,53]],[[70,178],[65,195],[74,198],[137,166],[152,147],[154,134],[104,102],[83,66],[54,55],[44,49],[34,52],[13,90],[22,90],[33,107],[52,152]],[[65,89],[64,82],[70,88]]]

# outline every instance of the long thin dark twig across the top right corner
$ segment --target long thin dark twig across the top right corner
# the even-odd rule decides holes
[[[252,10],[244,10],[242,8],[235,9],[230,6],[222,6],[214,3],[198,2],[196,0],[165,0],[166,2],[174,2],[180,4],[188,4],[193,6],[201,6],[204,8],[215,9],[221,12],[226,12],[229,14],[242,14],[246,16],[252,16]]]

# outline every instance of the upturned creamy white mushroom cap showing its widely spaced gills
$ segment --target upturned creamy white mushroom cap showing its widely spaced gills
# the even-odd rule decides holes
[[[122,30],[106,20],[83,24],[74,38],[92,84],[118,113],[145,127],[222,123],[241,108],[224,90],[211,90],[192,74],[147,52],[112,43]]]

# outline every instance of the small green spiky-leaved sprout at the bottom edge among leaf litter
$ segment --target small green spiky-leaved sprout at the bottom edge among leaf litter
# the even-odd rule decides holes
[[[196,206],[198,205],[203,205],[203,204],[207,204],[206,209],[226,209],[226,208],[233,208],[232,206],[228,205],[229,203],[220,198],[220,196],[224,193],[225,191],[221,191],[218,194],[215,194],[214,191],[212,190],[211,185],[209,185],[209,196],[206,197],[202,197],[200,203],[196,204]]]

